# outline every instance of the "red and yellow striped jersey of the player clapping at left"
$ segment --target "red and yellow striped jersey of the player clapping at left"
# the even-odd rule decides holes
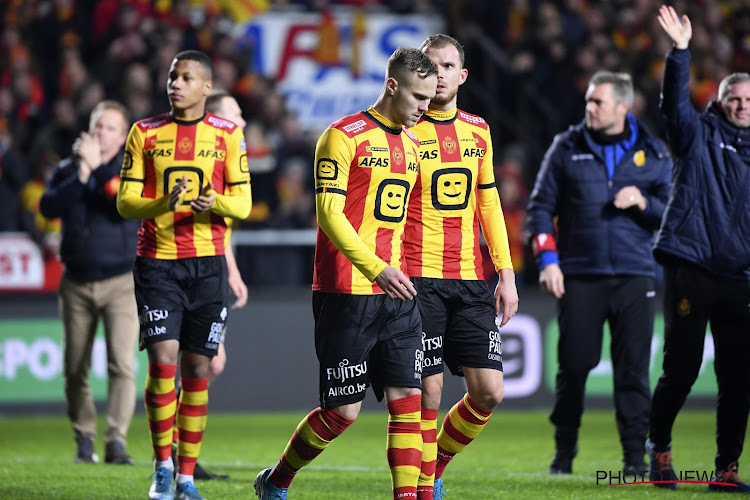
[[[169,195],[183,176],[188,179],[187,192],[171,211]],[[142,257],[224,255],[225,217],[244,219],[252,205],[242,130],[211,113],[193,121],[163,114],[135,123],[120,179],[120,213],[143,219],[138,233]],[[190,201],[209,182],[216,200],[210,211],[195,213]]]

